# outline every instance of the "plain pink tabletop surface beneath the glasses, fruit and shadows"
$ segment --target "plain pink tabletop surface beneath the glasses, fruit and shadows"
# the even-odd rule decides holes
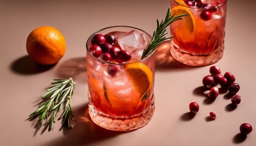
[[[95,30],[107,26],[134,26],[152,34],[156,19],[163,19],[169,0],[162,1],[0,1],[1,102],[0,145],[256,145],[256,132],[240,136],[241,123],[256,128],[255,97],[255,1],[229,0],[224,57],[216,66],[232,72],[241,89],[237,108],[221,94],[208,100],[202,78],[210,66],[190,67],[174,61],[169,43],[157,50],[155,114],[145,127],[116,133],[97,127],[87,113],[85,43]],[[26,38],[39,26],[52,26],[66,38],[66,54],[46,68],[38,66],[26,52]],[[54,78],[73,77],[77,86],[73,111],[77,122],[72,131],[35,130],[26,120],[37,109],[40,96]],[[188,114],[190,102],[199,103],[196,116]],[[208,120],[208,113],[217,115]]]

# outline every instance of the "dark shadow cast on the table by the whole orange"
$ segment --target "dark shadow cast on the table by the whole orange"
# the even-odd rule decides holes
[[[55,64],[41,65],[41,64],[35,63],[35,61],[32,60],[32,58],[30,58],[29,55],[25,55],[24,57],[20,57],[15,61],[13,61],[13,63],[10,64],[10,69],[12,69],[12,71],[18,74],[31,75],[31,74],[39,74],[41,72],[48,71],[54,66]]]

